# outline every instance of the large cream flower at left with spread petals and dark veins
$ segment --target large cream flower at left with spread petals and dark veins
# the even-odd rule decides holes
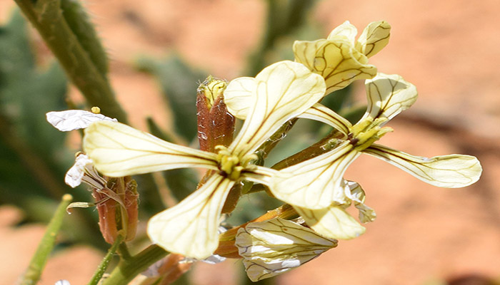
[[[121,123],[96,122],[85,130],[84,150],[104,175],[179,167],[217,171],[189,197],[149,220],[149,237],[170,252],[196,259],[214,252],[221,208],[231,187],[239,180],[267,184],[276,172],[253,165],[254,152],[287,120],[321,99],[326,89],[321,76],[291,61],[274,63],[252,80],[248,119],[229,147],[216,148],[218,153],[174,145]],[[225,93],[246,92],[239,81],[231,81]]]

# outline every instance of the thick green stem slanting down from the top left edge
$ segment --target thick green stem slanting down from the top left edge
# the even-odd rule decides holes
[[[15,1],[89,104],[99,106],[104,115],[127,123],[126,113],[116,101],[109,81],[102,72],[103,68],[93,61],[91,53],[82,43],[89,41],[89,38],[82,38],[75,33],[64,19],[61,1],[68,0]]]

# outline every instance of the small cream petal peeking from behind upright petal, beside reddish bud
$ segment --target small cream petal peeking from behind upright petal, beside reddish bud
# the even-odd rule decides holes
[[[240,120],[245,120],[250,105],[254,102],[255,89],[255,78],[241,77],[231,81],[231,84],[224,90],[224,103],[229,113]]]

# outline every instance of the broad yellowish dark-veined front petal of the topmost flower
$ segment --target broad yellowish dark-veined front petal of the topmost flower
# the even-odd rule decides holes
[[[295,41],[295,60],[314,73],[323,76],[326,94],[348,86],[356,79],[376,76],[376,67],[346,38],[332,40]]]

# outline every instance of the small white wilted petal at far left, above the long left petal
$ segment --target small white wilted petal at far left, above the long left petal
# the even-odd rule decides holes
[[[67,132],[87,128],[91,123],[99,120],[116,122],[116,119],[101,114],[94,114],[85,110],[65,110],[46,113],[47,121],[57,130]]]

